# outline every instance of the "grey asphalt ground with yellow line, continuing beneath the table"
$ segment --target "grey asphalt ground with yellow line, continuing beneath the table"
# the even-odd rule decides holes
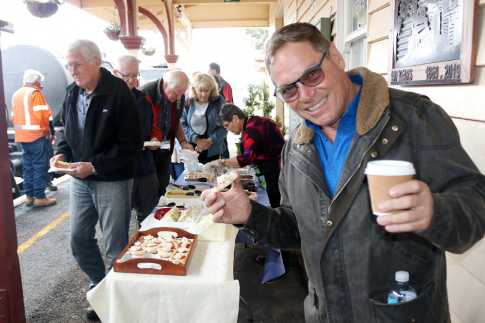
[[[74,261],[69,246],[69,184],[67,179],[58,185],[58,191],[47,193],[49,198],[58,200],[50,207],[28,207],[19,203],[21,198],[16,200],[27,322],[93,322],[85,316],[90,281]],[[130,238],[135,232],[132,217]],[[97,238],[103,249],[99,228]],[[276,283],[261,285],[264,264],[256,261],[256,256],[264,254],[265,249],[255,245],[236,244],[234,251],[234,278],[239,280],[240,293],[251,308],[253,322],[304,322],[307,282],[299,252],[291,252],[288,276]],[[240,303],[238,322],[248,322],[243,303]]]

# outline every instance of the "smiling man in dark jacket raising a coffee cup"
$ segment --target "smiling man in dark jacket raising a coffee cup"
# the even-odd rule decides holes
[[[465,252],[485,228],[485,177],[451,118],[364,67],[345,72],[311,24],[275,31],[265,61],[275,96],[304,119],[281,154],[281,207],[249,200],[237,178],[228,192],[203,192],[213,221],[238,225],[262,246],[302,250],[307,322],[450,322],[445,251]],[[364,175],[375,159],[416,169],[391,187],[378,206],[388,215],[377,217]],[[418,297],[388,305],[399,270]]]

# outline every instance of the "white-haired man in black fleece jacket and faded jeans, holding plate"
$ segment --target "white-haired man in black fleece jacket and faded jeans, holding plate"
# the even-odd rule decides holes
[[[91,279],[90,289],[106,275],[96,223],[103,233],[110,269],[128,244],[130,197],[143,131],[135,98],[126,83],[101,68],[95,43],[69,45],[66,62],[74,82],[62,108],[64,132],[53,161],[71,162],[70,243],[74,258]],[[96,318],[93,308],[86,310]]]

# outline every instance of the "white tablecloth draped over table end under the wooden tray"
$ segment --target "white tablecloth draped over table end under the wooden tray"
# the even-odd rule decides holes
[[[107,322],[237,322],[239,281],[234,280],[237,229],[226,226],[226,241],[198,241],[187,276],[115,273],[87,299]]]

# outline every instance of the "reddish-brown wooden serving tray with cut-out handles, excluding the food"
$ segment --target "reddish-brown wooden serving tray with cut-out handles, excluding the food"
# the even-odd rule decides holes
[[[159,231],[173,231],[178,234],[177,238],[187,237],[187,239],[192,239],[192,246],[189,250],[189,254],[187,255],[187,261],[185,261],[184,265],[181,264],[173,264],[170,261],[159,259],[159,258],[151,258],[151,257],[141,257],[141,258],[132,258],[127,261],[118,262],[121,258],[128,252],[129,248],[134,245],[135,242],[142,235],[151,234],[154,237],[158,237]],[[113,271],[118,273],[135,273],[135,274],[153,274],[153,275],[175,275],[175,276],[185,276],[187,275],[187,270],[189,268],[190,262],[192,260],[192,255],[194,254],[195,245],[197,244],[197,234],[192,234],[182,229],[178,228],[152,228],[146,231],[138,231],[136,232],[135,236],[131,239],[129,244],[123,249],[121,254],[116,258],[113,262]],[[156,263],[162,266],[162,269],[154,269],[154,268],[138,268],[139,263]]]

